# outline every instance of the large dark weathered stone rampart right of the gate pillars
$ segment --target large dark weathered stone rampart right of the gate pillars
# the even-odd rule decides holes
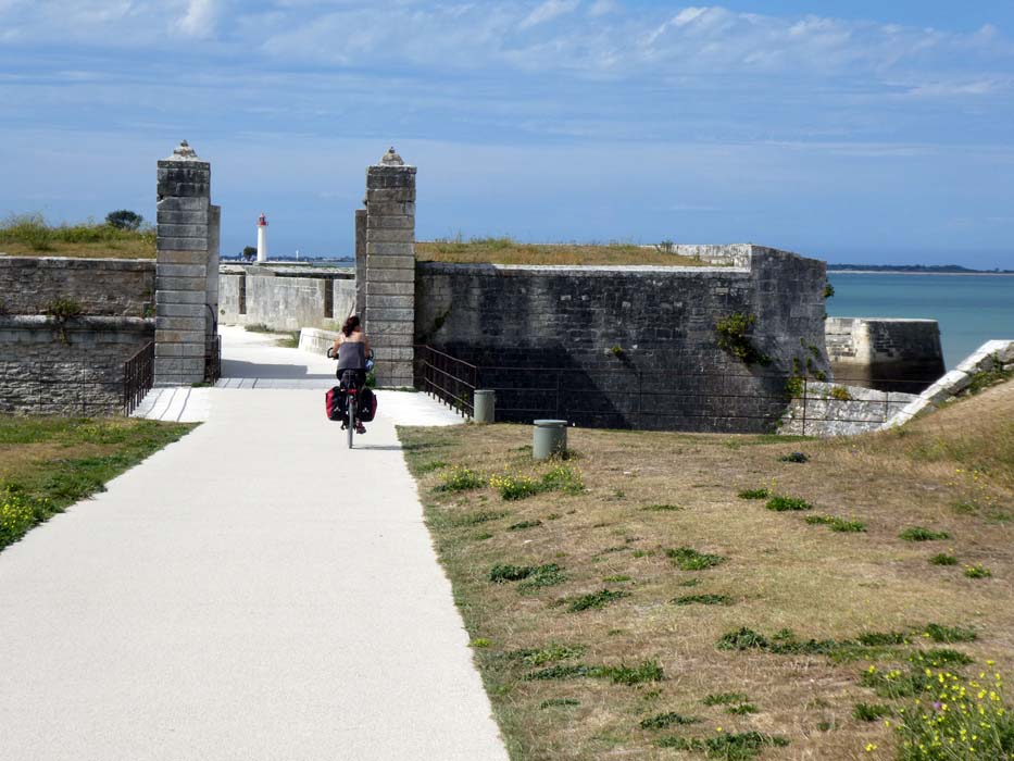
[[[771,431],[787,377],[828,372],[825,265],[758,246],[698,250],[716,265],[420,263],[415,339],[487,367],[478,385],[497,389],[502,420]],[[718,347],[716,323],[737,313],[755,319],[749,340],[768,366]]]

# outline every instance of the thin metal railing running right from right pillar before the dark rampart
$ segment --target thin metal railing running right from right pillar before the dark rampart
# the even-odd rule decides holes
[[[912,400],[863,392],[786,374],[689,372],[687,369],[531,367],[475,365],[424,346],[416,349],[420,389],[463,415],[477,388],[496,392],[497,420],[554,417],[587,427],[802,435],[829,427],[877,427]]]

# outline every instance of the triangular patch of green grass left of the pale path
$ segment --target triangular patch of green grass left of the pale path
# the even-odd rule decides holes
[[[0,415],[0,549],[172,444],[192,425]]]

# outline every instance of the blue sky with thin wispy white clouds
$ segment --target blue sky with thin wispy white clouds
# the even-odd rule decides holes
[[[395,146],[420,239],[1014,269],[1014,2],[0,0],[0,214],[153,220],[183,138],[223,254],[351,254]]]

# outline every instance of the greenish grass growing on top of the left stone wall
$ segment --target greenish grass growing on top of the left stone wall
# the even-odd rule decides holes
[[[12,257],[154,259],[152,226],[127,230],[95,221],[51,225],[39,213],[11,214],[0,222],[0,252]]]

